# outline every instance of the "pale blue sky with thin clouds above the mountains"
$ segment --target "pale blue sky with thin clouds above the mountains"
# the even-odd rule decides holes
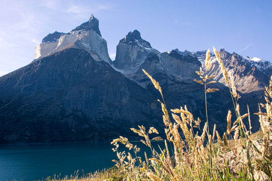
[[[119,40],[137,29],[161,52],[215,46],[272,61],[271,0],[1,0],[0,75],[31,63],[47,34],[68,33],[91,14],[113,60]]]

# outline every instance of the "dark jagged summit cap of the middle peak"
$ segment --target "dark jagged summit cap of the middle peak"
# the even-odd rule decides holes
[[[141,34],[138,30],[129,32],[125,38],[120,40],[121,43],[128,43],[133,45],[139,45],[142,48],[152,48],[151,44],[148,41],[145,41],[141,38]]]

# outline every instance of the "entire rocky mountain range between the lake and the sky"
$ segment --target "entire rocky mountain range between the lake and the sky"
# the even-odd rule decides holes
[[[161,97],[142,69],[160,83],[168,109],[187,105],[205,122],[204,87],[193,81],[205,55],[206,50],[160,53],[134,30],[119,41],[112,61],[93,15],[69,33],[48,34],[32,63],[0,77],[0,144],[137,139],[129,130],[137,125],[163,134]],[[258,112],[271,63],[225,49],[220,56],[235,77],[241,112],[246,105]],[[223,133],[233,106],[213,54],[212,72],[217,81],[212,87],[220,91],[208,94],[209,123]],[[258,118],[251,117],[257,131]]]

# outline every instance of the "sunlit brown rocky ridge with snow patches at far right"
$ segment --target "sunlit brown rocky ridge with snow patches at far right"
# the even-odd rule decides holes
[[[189,51],[176,51],[180,55],[190,55],[196,57],[202,64],[204,64],[206,50],[197,51],[196,53],[191,53]],[[270,76],[272,74],[272,64],[268,61],[264,61],[259,58],[249,58],[242,57],[235,52],[230,54],[225,49],[220,49],[219,54],[221,56],[222,62],[225,64],[227,70],[234,77],[234,83],[236,88],[241,93],[251,93],[254,91],[264,90],[265,86],[268,86]],[[216,61],[215,55],[211,55],[212,58],[212,73],[215,74],[214,80],[225,84],[224,77],[219,65]]]

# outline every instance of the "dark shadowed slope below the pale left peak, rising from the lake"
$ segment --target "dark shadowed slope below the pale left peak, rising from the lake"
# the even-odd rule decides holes
[[[0,143],[110,140],[161,125],[153,95],[81,49],[38,59],[0,87]]]

